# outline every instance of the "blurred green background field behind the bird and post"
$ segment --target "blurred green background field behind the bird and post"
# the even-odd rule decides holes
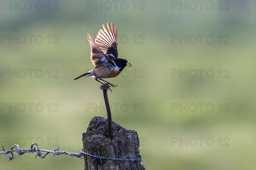
[[[81,150],[90,119],[107,115],[100,84],[73,78],[93,69],[86,34],[113,21],[119,58],[133,66],[107,80],[118,85],[112,118],[137,131],[146,169],[256,168],[255,1],[23,2],[1,1],[1,146]],[[84,168],[75,157],[34,158],[1,155],[0,169]]]

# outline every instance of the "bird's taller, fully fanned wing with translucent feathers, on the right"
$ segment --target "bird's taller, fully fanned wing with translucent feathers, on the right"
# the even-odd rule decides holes
[[[103,24],[103,30],[99,30],[98,35],[95,39],[97,46],[104,52],[106,56],[108,56],[111,60],[116,59],[118,56],[117,52],[117,28],[113,23],[111,26],[109,23],[107,24],[108,29]]]

